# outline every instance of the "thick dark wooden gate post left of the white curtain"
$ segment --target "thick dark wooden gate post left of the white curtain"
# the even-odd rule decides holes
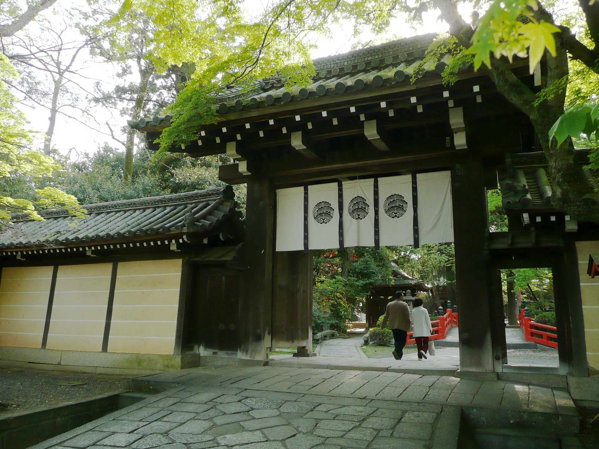
[[[247,181],[246,271],[239,305],[241,359],[265,360],[271,347],[274,201],[269,180]]]

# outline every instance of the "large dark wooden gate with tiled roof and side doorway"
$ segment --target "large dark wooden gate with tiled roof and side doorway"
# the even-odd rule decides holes
[[[527,167],[543,166],[534,160],[542,155],[528,117],[482,71],[466,68],[446,87],[444,59],[418,65],[433,38],[317,59],[313,84],[301,89],[286,89],[280,77],[228,89],[217,96],[217,122],[184,147],[196,157],[228,154],[234,162],[220,166],[220,180],[247,184],[238,357],[265,360],[279,345],[300,353],[311,348],[312,253],[276,251],[277,189],[450,171],[461,371],[501,372],[505,365],[498,269],[546,266],[550,257],[562,371],[588,375],[575,240],[593,239],[564,232],[571,227],[564,214],[545,197],[539,202],[526,194],[507,205],[515,208],[510,232],[489,233],[486,189],[522,171],[532,191],[536,178],[527,178]],[[528,60],[510,69],[531,89],[543,87],[543,63],[537,75],[528,73]],[[411,83],[415,71],[422,76]],[[156,116],[130,126],[146,132],[156,149],[169,120]]]

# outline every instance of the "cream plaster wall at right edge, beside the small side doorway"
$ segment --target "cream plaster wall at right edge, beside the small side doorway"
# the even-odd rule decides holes
[[[585,320],[589,374],[599,374],[599,277],[586,274],[590,253],[599,253],[599,241],[576,242],[582,312]]]

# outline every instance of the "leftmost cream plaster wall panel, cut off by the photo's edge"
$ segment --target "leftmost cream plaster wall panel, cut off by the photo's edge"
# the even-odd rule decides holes
[[[52,266],[3,268],[0,346],[41,347]]]

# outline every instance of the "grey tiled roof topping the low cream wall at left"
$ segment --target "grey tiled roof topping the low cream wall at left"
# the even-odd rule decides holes
[[[41,211],[44,220],[16,214],[13,225],[0,234],[0,251],[91,247],[212,233],[236,213],[234,196],[232,187],[225,186],[83,205],[88,214],[83,219],[62,209]]]

